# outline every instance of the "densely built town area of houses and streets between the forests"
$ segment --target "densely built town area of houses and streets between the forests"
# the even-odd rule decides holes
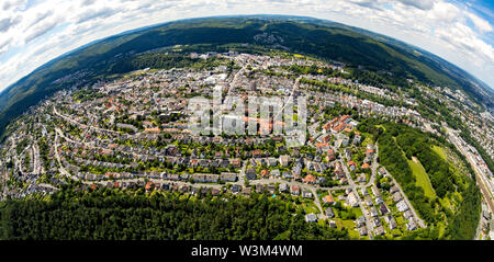
[[[214,67],[145,69],[90,89],[59,91],[30,109],[1,147],[2,181],[12,181],[12,186],[2,187],[2,197],[49,194],[80,181],[81,189],[92,190],[267,194],[291,200],[304,209],[305,221],[348,229],[355,238],[393,238],[427,227],[379,163],[378,145],[357,127],[361,118],[383,117],[431,134],[438,130],[414,110],[322,92],[316,83],[343,84],[411,104],[413,99],[343,78],[311,73],[294,78],[289,70],[292,66],[344,70],[336,64],[236,52],[189,56],[214,59]],[[189,100],[212,99],[215,89],[240,98],[225,99],[221,113],[233,111],[249,95],[307,98],[305,144],[290,147],[288,137],[271,134],[272,125],[268,135],[193,135],[189,121],[195,109]],[[346,109],[359,118],[344,113]],[[294,113],[294,118],[301,114]],[[252,121],[245,117],[246,123]]]

